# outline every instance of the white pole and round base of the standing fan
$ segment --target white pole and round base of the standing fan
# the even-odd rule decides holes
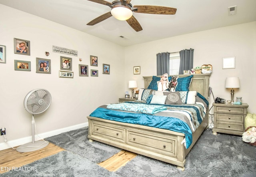
[[[21,145],[19,147],[17,147],[17,151],[18,152],[32,152],[32,151],[36,151],[39,149],[42,149],[44,147],[46,147],[49,142],[45,141],[43,139],[35,141],[35,121],[34,121],[34,115],[32,114],[32,142],[30,143],[26,143],[24,145]]]

